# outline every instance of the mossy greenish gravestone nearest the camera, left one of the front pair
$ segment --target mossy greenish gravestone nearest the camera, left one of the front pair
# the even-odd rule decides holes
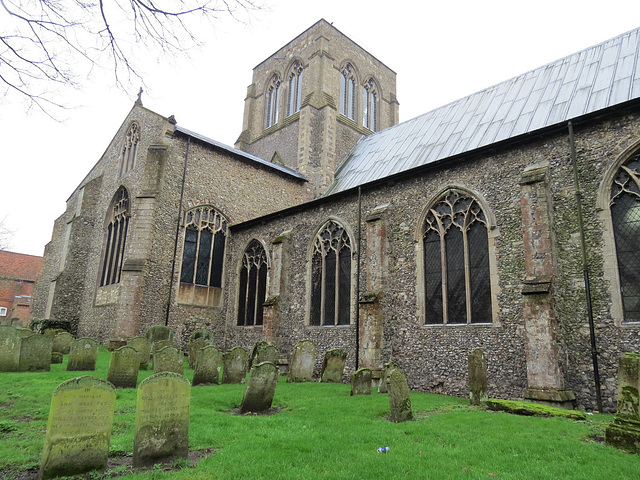
[[[42,479],[106,468],[115,404],[115,389],[100,378],[73,378],[56,388],[42,450]]]

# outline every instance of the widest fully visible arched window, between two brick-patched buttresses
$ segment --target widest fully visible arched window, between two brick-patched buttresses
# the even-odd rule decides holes
[[[476,200],[449,190],[423,234],[425,323],[490,323],[487,221]]]

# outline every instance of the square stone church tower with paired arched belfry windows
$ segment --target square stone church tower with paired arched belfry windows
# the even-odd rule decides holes
[[[253,69],[235,146],[305,175],[311,199],[361,136],[397,123],[395,72],[320,20]]]

